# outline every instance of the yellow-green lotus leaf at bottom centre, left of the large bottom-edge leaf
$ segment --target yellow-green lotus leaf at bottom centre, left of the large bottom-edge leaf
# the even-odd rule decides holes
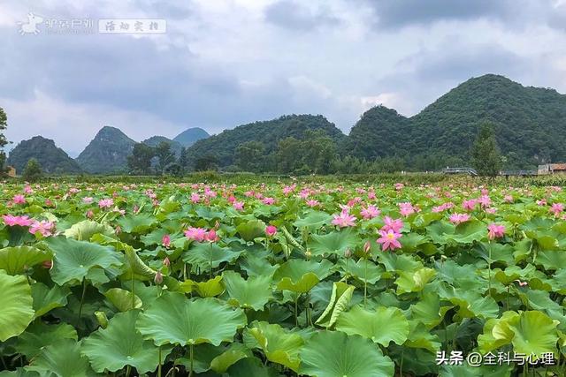
[[[301,363],[298,353],[304,344],[302,336],[277,324],[254,322],[253,327],[244,331],[243,340],[250,349],[264,351],[265,357],[273,363],[298,370]]]

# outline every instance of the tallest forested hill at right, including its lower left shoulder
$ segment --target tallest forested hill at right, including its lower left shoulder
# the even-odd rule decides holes
[[[396,155],[413,170],[466,164],[485,121],[494,125],[507,168],[566,160],[566,95],[493,74],[465,81],[414,117],[383,107],[368,110],[343,152],[360,158]]]

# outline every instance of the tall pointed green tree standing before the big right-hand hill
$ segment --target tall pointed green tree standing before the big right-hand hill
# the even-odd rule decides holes
[[[472,166],[478,171],[478,175],[495,177],[499,174],[501,155],[493,133],[493,124],[485,122],[479,126],[470,155]]]

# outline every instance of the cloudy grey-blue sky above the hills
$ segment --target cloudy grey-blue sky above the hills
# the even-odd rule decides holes
[[[486,73],[566,93],[565,41],[564,0],[2,0],[0,107],[11,147],[73,157],[103,125],[140,141],[310,113],[348,132]]]

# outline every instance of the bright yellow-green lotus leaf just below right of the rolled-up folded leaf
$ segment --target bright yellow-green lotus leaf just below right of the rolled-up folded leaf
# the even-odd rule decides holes
[[[374,311],[360,305],[343,312],[336,321],[336,329],[348,335],[359,335],[387,347],[390,342],[401,345],[409,336],[409,321],[396,307],[379,306]]]

